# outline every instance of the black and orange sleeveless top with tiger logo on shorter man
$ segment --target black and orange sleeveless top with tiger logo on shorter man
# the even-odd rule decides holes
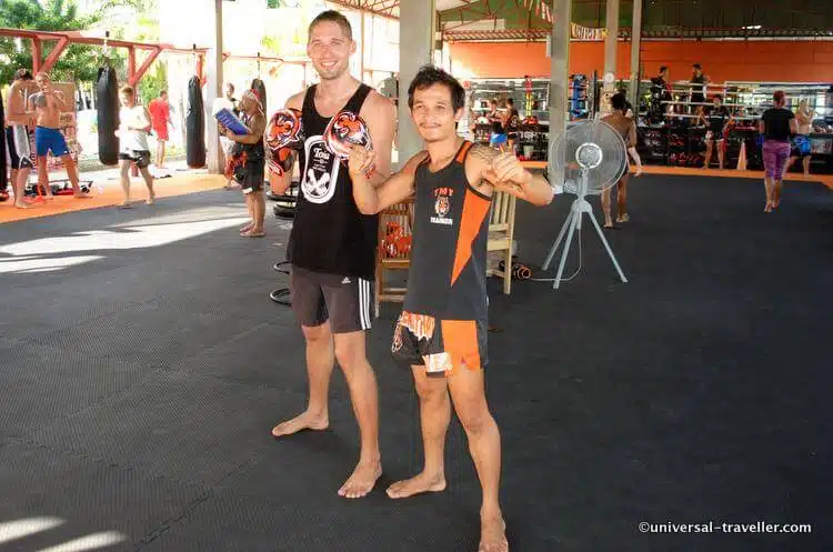
[[[465,178],[471,142],[444,169],[416,168],[411,269],[403,309],[440,320],[485,320],[491,199]]]

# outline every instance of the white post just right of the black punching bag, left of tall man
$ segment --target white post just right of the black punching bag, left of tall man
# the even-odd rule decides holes
[[[220,148],[220,134],[217,130],[217,122],[211,110],[214,107],[214,100],[222,98],[223,82],[223,8],[222,0],[207,0],[210,4],[210,20],[214,30],[209,50],[207,53],[205,71],[208,84],[205,86],[205,98],[203,99],[203,109],[205,112],[205,163],[209,173],[221,174],[223,172],[223,153]]]

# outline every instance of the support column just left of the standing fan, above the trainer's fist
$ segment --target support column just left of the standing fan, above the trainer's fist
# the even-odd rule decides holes
[[[550,151],[566,132],[566,93],[570,78],[570,18],[571,0],[552,1],[552,40],[550,48]],[[552,185],[562,185],[563,172],[549,164]]]

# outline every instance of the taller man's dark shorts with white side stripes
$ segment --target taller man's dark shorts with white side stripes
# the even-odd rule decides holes
[[[289,293],[301,325],[314,328],[329,320],[333,333],[370,330],[373,285],[369,280],[324,274],[293,265]]]

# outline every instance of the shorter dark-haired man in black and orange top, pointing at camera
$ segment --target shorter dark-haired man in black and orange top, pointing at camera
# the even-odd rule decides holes
[[[479,552],[505,552],[509,543],[498,501],[500,433],[486,405],[482,370],[489,210],[495,190],[538,205],[552,201],[553,190],[512,153],[472,145],[456,136],[464,97],[453,77],[423,68],[408,90],[408,104],[425,151],[374,187],[363,177],[375,161],[374,152],[354,148],[350,174],[363,213],[378,213],[415,194],[408,294],[392,350],[413,373],[425,465],[419,475],[391,485],[388,494],[402,499],[445,489],[443,450],[453,402],[483,488]]]

